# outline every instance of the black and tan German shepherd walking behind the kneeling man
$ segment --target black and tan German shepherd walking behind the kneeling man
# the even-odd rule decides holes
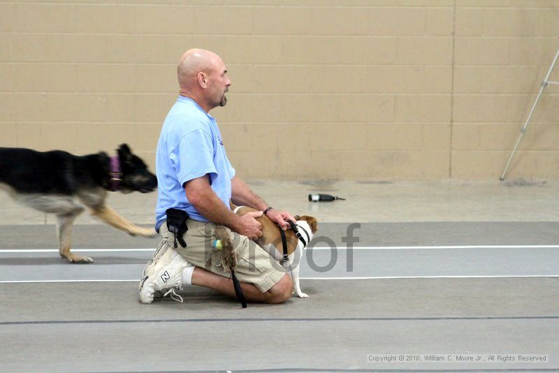
[[[70,250],[72,224],[85,207],[94,217],[129,235],[157,235],[105,205],[108,191],[148,193],[156,188],[157,177],[126,144],[112,157],[105,152],[75,156],[61,150],[0,147],[0,189],[6,189],[17,202],[57,215],[59,253],[70,263],[93,263],[92,258],[76,256]]]

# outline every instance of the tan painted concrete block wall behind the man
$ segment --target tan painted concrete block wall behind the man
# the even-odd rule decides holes
[[[496,179],[558,21],[551,0],[0,1],[0,146],[128,142],[153,167],[178,58],[203,47],[233,80],[211,114],[246,179]],[[558,92],[509,177],[559,177]]]

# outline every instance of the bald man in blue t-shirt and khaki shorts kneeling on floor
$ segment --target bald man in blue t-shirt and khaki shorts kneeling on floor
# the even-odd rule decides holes
[[[168,113],[157,144],[158,185],[156,231],[163,240],[147,264],[140,282],[140,300],[152,302],[154,293],[174,293],[191,284],[235,296],[231,273],[215,258],[212,231],[216,224],[231,231],[239,279],[247,301],[282,303],[291,297],[293,282],[273,265],[266,251],[249,239],[262,235],[255,217],[266,214],[283,229],[291,214],[272,209],[247,184],[235,176],[210,110],[224,106],[231,80],[224,62],[208,50],[188,50],[177,67],[180,96]],[[254,207],[238,217],[229,207]],[[177,208],[189,214],[187,247],[173,249],[175,237],[166,225],[166,210]],[[177,254],[178,251],[178,254]],[[184,261],[186,259],[186,261]],[[173,296],[173,295],[171,295]]]

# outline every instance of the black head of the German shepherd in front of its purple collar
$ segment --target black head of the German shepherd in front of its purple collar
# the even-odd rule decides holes
[[[157,188],[157,177],[147,170],[147,166],[139,156],[132,154],[128,145],[120,145],[117,153],[120,170],[122,171],[122,181],[119,184],[120,191],[123,193],[133,191],[149,193]]]

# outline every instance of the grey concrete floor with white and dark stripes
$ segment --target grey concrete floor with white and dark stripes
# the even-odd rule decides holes
[[[301,263],[310,298],[241,309],[188,288],[183,304],[142,305],[137,279],[157,240],[81,217],[73,246],[96,263],[69,265],[52,252],[52,217],[0,196],[0,371],[559,370],[559,182],[250,184],[270,205],[318,217],[333,241],[335,251],[314,241]],[[314,192],[347,200],[308,203]],[[154,199],[115,194],[110,205],[151,224]],[[361,226],[350,251],[351,223]],[[369,361],[382,354],[452,361]],[[504,354],[546,362],[456,361]]]

